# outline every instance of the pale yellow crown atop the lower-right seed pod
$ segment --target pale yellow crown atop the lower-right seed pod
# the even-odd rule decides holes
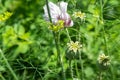
[[[102,64],[103,66],[110,65],[109,56],[105,56],[105,54],[100,54],[99,57],[98,57],[98,63]]]

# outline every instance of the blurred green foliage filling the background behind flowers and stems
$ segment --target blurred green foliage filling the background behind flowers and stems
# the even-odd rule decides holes
[[[57,0],[49,0],[57,3]],[[81,28],[84,65],[84,80],[97,80],[97,58],[102,51],[106,54],[104,36],[109,51],[111,65],[103,73],[103,80],[120,80],[120,1],[103,0],[103,20],[98,21],[93,15],[100,15],[100,0],[60,0],[68,2],[68,13],[75,11],[86,13],[85,23],[68,28],[73,41],[77,40],[76,29]],[[44,20],[45,0],[0,0],[0,14],[8,11],[12,16],[0,21],[0,48],[18,76],[19,80],[61,80],[61,68],[56,64],[57,51],[49,24]],[[105,28],[105,34],[101,26]],[[97,28],[97,30],[96,30]],[[72,80],[66,57],[69,42],[65,30],[60,32],[60,50],[67,80]],[[78,60],[78,71],[81,74]],[[73,73],[76,77],[73,62]],[[0,55],[0,80],[14,80]],[[4,79],[3,79],[4,80]]]

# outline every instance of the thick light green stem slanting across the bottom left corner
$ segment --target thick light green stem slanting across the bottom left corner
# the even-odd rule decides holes
[[[11,74],[13,75],[14,79],[15,79],[15,80],[18,80],[16,74],[14,73],[13,69],[11,68],[10,64],[8,63],[8,60],[6,59],[4,53],[2,52],[1,49],[0,49],[0,53],[1,53],[1,56],[2,56],[2,58],[4,59],[6,65],[7,65],[7,68],[10,70]]]

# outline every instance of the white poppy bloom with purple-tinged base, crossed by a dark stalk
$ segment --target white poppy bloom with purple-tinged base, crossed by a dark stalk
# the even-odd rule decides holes
[[[66,2],[59,2],[57,5],[49,2],[49,9],[50,9],[50,15],[52,18],[52,22],[56,24],[59,20],[64,21],[64,26],[73,26],[73,21],[70,18],[70,15],[67,13],[67,5],[68,3]],[[45,5],[44,7],[44,18],[45,20],[49,21],[49,15],[47,11],[47,6]]]

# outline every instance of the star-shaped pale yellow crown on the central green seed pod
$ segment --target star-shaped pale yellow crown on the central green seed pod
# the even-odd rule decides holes
[[[70,43],[67,43],[67,45],[68,45],[69,50],[75,53],[80,49],[80,47],[82,47],[82,45],[79,45],[78,41],[76,42],[70,41]]]

